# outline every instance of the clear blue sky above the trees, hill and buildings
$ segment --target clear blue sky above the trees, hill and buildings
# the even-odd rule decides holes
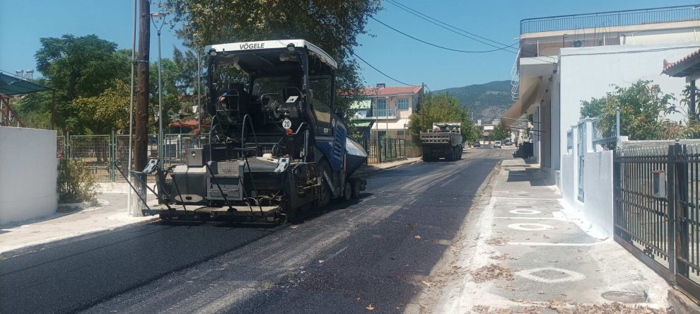
[[[514,43],[520,20],[542,16],[617,11],[658,6],[697,4],[687,0],[539,0],[539,1],[424,1],[397,0],[469,32],[504,43]],[[152,11],[157,11],[157,0]],[[132,45],[131,0],[0,0],[0,69],[34,69],[34,54],[40,37],[64,34],[96,34],[117,42],[119,48]],[[479,42],[420,20],[385,2],[375,16],[404,33],[428,42],[459,50],[492,49]],[[406,83],[425,82],[432,90],[510,79],[515,54],[491,52],[465,54],[450,52],[416,42],[394,30],[370,21],[369,34],[361,35],[356,53],[378,69]],[[151,39],[151,58],[156,59],[156,33]],[[170,57],[173,45],[182,47],[170,28],[163,28],[163,56]],[[367,83],[397,83],[363,64]]]

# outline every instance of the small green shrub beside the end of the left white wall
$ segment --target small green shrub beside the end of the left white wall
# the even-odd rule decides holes
[[[56,191],[59,203],[88,202],[95,197],[95,175],[78,159],[60,158]]]

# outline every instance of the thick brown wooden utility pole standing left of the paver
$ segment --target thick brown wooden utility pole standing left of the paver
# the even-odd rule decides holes
[[[134,186],[142,197],[146,197],[146,175],[141,173],[148,162],[148,60],[151,47],[151,3],[139,0],[139,81],[136,86],[136,138],[134,139],[134,172],[143,180],[135,180]],[[133,199],[133,198],[132,198]],[[138,197],[134,202],[139,202]],[[143,216],[145,204],[130,207],[131,216]]]

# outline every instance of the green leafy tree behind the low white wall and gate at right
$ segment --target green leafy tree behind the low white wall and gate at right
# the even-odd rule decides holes
[[[674,139],[682,128],[665,118],[677,112],[671,101],[673,95],[663,93],[652,81],[636,81],[631,86],[613,85],[605,97],[581,102],[581,117],[602,117],[598,122],[603,136],[612,136],[615,108],[620,108],[620,133],[629,139]]]

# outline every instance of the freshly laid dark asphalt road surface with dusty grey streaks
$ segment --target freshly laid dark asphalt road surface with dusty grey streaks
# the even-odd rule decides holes
[[[373,173],[303,223],[151,223],[0,260],[0,313],[402,312],[511,150]]]

